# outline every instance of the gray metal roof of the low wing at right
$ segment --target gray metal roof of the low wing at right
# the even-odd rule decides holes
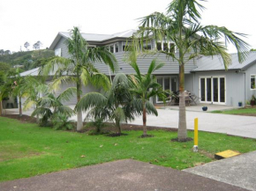
[[[229,70],[245,70],[251,64],[256,62],[256,52],[250,52],[245,62],[238,62],[237,54],[231,54],[232,62],[230,63]],[[211,70],[225,70],[221,55],[202,56],[197,60],[197,68],[192,72],[197,71],[211,71]]]

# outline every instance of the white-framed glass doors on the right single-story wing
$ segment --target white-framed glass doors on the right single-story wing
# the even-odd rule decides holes
[[[202,103],[225,104],[225,77],[200,77],[200,101]]]

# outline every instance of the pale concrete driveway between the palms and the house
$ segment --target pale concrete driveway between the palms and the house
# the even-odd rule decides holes
[[[157,111],[157,117],[147,115],[147,126],[178,128],[177,110],[158,109]],[[194,128],[196,117],[199,118],[199,130],[256,138],[256,117],[187,111],[187,129]],[[142,117],[136,118],[131,124],[142,125]]]

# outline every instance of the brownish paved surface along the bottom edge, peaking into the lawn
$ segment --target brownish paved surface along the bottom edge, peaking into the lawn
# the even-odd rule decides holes
[[[226,191],[245,190],[192,173],[150,165],[131,159],[49,173],[0,183],[1,191],[147,190]]]

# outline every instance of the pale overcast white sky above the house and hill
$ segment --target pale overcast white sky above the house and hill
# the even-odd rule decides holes
[[[82,33],[119,33],[137,29],[138,18],[165,12],[171,0],[0,0],[0,49],[26,50],[24,44],[40,40],[49,48],[58,32],[79,26]],[[208,0],[201,13],[202,25],[226,26],[248,34],[256,48],[255,0]],[[236,49],[229,46],[229,52]]]

